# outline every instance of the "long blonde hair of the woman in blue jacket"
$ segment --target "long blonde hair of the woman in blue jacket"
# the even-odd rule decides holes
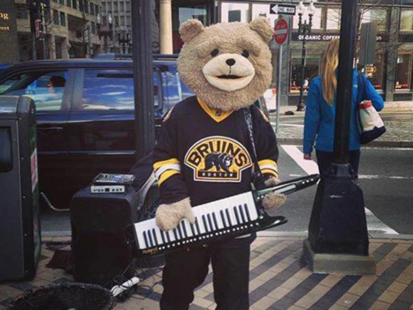
[[[321,74],[323,97],[329,106],[333,105],[337,89],[336,69],[339,65],[340,40],[331,40],[324,55],[324,68]]]

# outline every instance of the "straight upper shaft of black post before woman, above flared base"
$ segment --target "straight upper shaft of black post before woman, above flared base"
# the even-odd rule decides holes
[[[340,50],[337,78],[336,120],[334,131],[334,160],[347,164],[350,131],[351,102],[353,95],[353,59],[357,34],[358,0],[342,1]]]

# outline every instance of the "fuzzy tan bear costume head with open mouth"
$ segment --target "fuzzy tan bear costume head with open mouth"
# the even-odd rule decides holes
[[[273,29],[267,18],[209,27],[190,19],[179,33],[184,41],[177,61],[181,79],[210,108],[239,110],[270,86],[273,68],[267,42]]]

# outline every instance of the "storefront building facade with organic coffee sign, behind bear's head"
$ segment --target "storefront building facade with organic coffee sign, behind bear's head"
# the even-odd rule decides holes
[[[307,2],[304,4],[308,5]],[[216,22],[249,22],[255,17],[266,16],[274,24],[278,15],[270,13],[270,3],[297,5],[298,0],[172,0],[173,52],[179,52],[182,47],[178,30],[185,20],[197,18],[209,25]],[[315,1],[315,7],[312,33],[306,37],[305,96],[311,78],[321,74],[328,42],[340,35],[341,0]],[[359,10],[359,24],[370,21],[378,23],[375,62],[367,68],[367,76],[386,101],[411,101],[413,0],[360,0]],[[282,55],[281,104],[296,105],[301,86],[302,36],[298,35],[298,16],[284,17],[289,20],[292,33]],[[308,16],[304,15],[303,19],[308,21]],[[274,59],[272,87],[275,88],[278,47],[275,42],[270,42],[270,47]]]

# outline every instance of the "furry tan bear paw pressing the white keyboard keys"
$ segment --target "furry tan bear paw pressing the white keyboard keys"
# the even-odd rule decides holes
[[[176,228],[182,219],[192,224],[195,222],[189,197],[169,205],[162,204],[155,213],[156,225],[162,230]]]

